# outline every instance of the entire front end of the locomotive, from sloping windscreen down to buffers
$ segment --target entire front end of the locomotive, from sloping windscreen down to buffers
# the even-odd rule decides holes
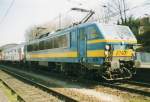
[[[136,38],[127,26],[103,25],[106,39],[102,77],[106,80],[129,79],[135,73]]]

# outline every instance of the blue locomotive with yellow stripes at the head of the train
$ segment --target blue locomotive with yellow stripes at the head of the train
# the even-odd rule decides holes
[[[98,22],[78,24],[25,44],[25,61],[60,71],[88,71],[106,80],[135,74],[137,40],[129,27]]]

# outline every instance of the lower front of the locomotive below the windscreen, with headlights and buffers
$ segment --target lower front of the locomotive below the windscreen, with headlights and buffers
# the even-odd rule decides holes
[[[107,80],[129,79],[136,74],[135,51],[131,46],[133,45],[106,45],[103,78]]]

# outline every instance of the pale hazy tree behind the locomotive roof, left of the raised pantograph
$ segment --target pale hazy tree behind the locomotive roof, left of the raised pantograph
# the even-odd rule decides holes
[[[31,26],[25,32],[25,41],[29,42],[34,39],[39,39],[43,35],[47,35],[50,32],[64,29],[71,24],[71,17],[63,16],[61,18],[55,18],[54,20],[43,23],[41,25]]]

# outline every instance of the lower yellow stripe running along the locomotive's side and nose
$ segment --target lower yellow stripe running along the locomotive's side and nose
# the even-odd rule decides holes
[[[129,50],[114,50],[113,57],[131,57],[134,51]],[[57,52],[57,53],[40,53],[28,54],[29,58],[76,58],[79,57],[76,51],[74,52]],[[87,57],[105,57],[105,50],[88,50]]]

